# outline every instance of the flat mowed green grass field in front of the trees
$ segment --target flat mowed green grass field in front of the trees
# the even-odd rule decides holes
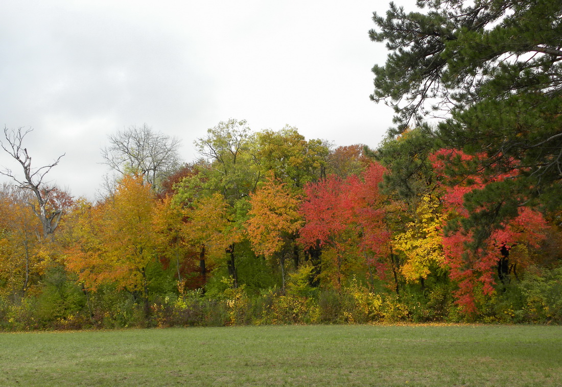
[[[560,326],[0,334],[8,386],[560,386]]]

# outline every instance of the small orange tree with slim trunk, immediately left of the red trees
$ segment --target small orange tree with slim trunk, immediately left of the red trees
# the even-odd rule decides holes
[[[253,251],[271,258],[279,256],[282,286],[285,289],[285,254],[279,254],[288,239],[302,226],[302,216],[298,211],[300,199],[270,172],[264,184],[250,194],[251,209],[246,221],[246,234]]]

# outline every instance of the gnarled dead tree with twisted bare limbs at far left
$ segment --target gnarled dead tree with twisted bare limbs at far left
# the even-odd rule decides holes
[[[43,239],[51,239],[58,226],[58,222],[61,220],[62,211],[57,208],[53,211],[47,210],[49,193],[51,193],[52,190],[44,185],[43,179],[52,167],[58,164],[64,154],[58,156],[52,164],[39,167],[38,169],[32,169],[31,157],[28,154],[28,150],[23,147],[24,138],[30,131],[33,131],[33,129],[7,129],[4,126],[6,143],[0,142],[0,145],[6,153],[10,154],[14,160],[20,163],[24,170],[24,179],[16,177],[16,175],[7,168],[0,171],[0,174],[11,177],[19,185],[19,188],[29,189],[33,192],[37,203],[29,203],[29,205],[43,226]]]

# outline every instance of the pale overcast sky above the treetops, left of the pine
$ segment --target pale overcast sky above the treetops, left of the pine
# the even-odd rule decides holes
[[[396,0],[407,11],[414,0]],[[107,136],[147,124],[194,140],[220,121],[298,128],[306,139],[376,147],[392,109],[369,99],[373,12],[387,1],[4,0],[0,125],[32,128],[32,166],[65,154],[46,181],[94,199]],[[0,153],[0,166],[21,167]],[[0,181],[7,181],[6,179]]]

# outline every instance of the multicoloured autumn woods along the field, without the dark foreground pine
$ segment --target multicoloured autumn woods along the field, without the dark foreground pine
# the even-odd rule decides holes
[[[24,140],[6,133],[8,143]],[[560,276],[556,221],[521,207],[472,251],[469,230],[446,231],[470,215],[463,195],[486,185],[479,176],[449,184],[447,158],[470,156],[429,154],[407,200],[393,185],[383,155],[422,134],[407,131],[369,151],[229,120],[197,140],[200,160],[181,165],[176,140],[132,127],[112,146],[117,136],[157,139],[152,145],[171,144],[161,163],[171,167],[139,167],[151,147],[114,149],[138,160],[123,161],[96,202],[43,185],[44,174],[31,169],[30,182],[2,189],[3,325],[205,325],[204,316],[178,317],[202,303],[221,316],[212,324],[493,320],[505,319],[491,309],[506,299],[524,301],[523,321],[559,318],[559,308],[520,295],[531,279]],[[285,316],[285,303],[296,312]],[[537,303],[542,314],[531,313]]]

